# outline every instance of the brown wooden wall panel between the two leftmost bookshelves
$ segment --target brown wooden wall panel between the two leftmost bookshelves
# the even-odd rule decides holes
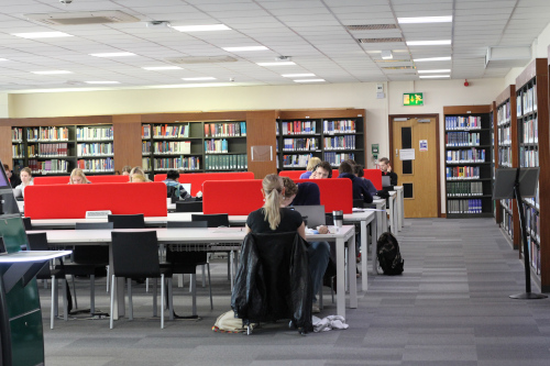
[[[124,165],[141,167],[141,114],[112,117],[114,170]]]

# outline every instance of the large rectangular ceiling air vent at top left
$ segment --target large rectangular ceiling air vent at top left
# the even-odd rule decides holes
[[[119,10],[109,11],[80,11],[73,13],[23,14],[31,21],[47,25],[85,25],[106,23],[139,22],[135,16]]]

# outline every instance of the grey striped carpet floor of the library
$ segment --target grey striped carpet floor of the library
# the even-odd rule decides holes
[[[550,365],[550,300],[513,300],[524,290],[524,271],[492,219],[408,219],[398,235],[403,276],[369,276],[359,308],[348,309],[345,331],[300,336],[283,322],[253,335],[211,331],[230,309],[227,267],[212,264],[215,310],[199,287],[200,321],[151,318],[144,286],[134,291],[133,321],[72,317],[50,330],[50,290],[41,289],[48,366],[125,365]],[[358,279],[358,288],[360,287]],[[102,285],[99,285],[102,284]],[[80,307],[87,281],[77,281]],[[105,279],[97,308],[109,311]],[[534,287],[534,291],[537,288]],[[175,291],[176,311],[190,312],[187,288]],[[333,314],[330,289],[321,315]]]

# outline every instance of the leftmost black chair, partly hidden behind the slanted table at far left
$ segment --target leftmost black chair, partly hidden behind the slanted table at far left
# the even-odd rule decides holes
[[[47,251],[47,237],[46,233],[29,233],[29,248],[31,251]],[[62,265],[59,268],[52,269],[50,262],[47,262],[44,267],[36,275],[36,279],[52,279],[52,309],[50,312],[50,329],[54,329],[54,318],[58,314],[57,310],[57,280],[61,279],[63,282],[63,319],[67,321],[68,319],[68,287],[67,280],[65,278],[65,270],[63,269],[63,259],[61,259]]]

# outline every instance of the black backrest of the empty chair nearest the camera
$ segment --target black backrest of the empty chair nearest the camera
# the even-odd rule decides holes
[[[117,277],[161,277],[156,231],[111,232],[112,274]]]

